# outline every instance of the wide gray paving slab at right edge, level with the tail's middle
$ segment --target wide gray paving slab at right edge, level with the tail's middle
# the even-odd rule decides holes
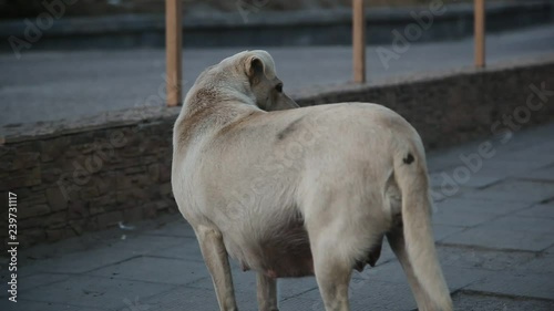
[[[441,243],[502,250],[541,251],[550,247],[554,242],[553,239],[551,232],[516,231],[510,228],[499,230],[480,226],[454,234],[441,240]]]

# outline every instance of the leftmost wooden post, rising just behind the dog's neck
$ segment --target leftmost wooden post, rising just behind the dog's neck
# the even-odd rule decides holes
[[[181,0],[165,1],[165,56],[167,106],[177,106],[183,101],[181,81],[183,56],[183,27]]]

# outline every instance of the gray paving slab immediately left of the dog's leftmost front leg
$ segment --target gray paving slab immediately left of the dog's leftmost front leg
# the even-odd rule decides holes
[[[203,262],[136,257],[89,272],[90,276],[183,286],[208,277]]]

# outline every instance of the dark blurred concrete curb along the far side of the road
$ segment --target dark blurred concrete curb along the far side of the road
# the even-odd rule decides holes
[[[442,2],[442,1],[437,1]],[[433,15],[432,27],[423,28],[417,41],[452,40],[473,32],[473,7],[470,3],[443,4],[443,12]],[[393,30],[400,32],[418,23],[414,14],[429,12],[430,7],[380,8],[367,10],[370,44],[390,43]],[[488,31],[496,32],[554,21],[554,1],[533,0],[486,6]],[[280,12],[249,12],[243,18],[233,13],[186,14],[183,21],[184,44],[207,46],[270,46],[350,44],[350,9]],[[0,50],[11,50],[10,37],[25,40],[33,19],[0,22]],[[113,15],[100,18],[61,18],[42,29],[33,49],[113,49],[163,46],[163,15]],[[421,24],[420,24],[421,29]],[[47,39],[47,40],[44,40]]]

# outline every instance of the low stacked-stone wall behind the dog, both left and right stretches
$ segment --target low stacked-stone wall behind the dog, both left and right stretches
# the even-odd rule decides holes
[[[301,105],[387,105],[413,124],[428,148],[438,148],[554,121],[552,92],[537,92],[554,90],[553,73],[554,58],[548,58],[378,85],[314,89],[294,97]],[[151,107],[3,128],[0,191],[2,205],[8,190],[18,195],[20,242],[55,241],[175,212],[171,139],[178,111]],[[7,219],[7,208],[1,212]],[[2,240],[7,232],[1,221]]]

